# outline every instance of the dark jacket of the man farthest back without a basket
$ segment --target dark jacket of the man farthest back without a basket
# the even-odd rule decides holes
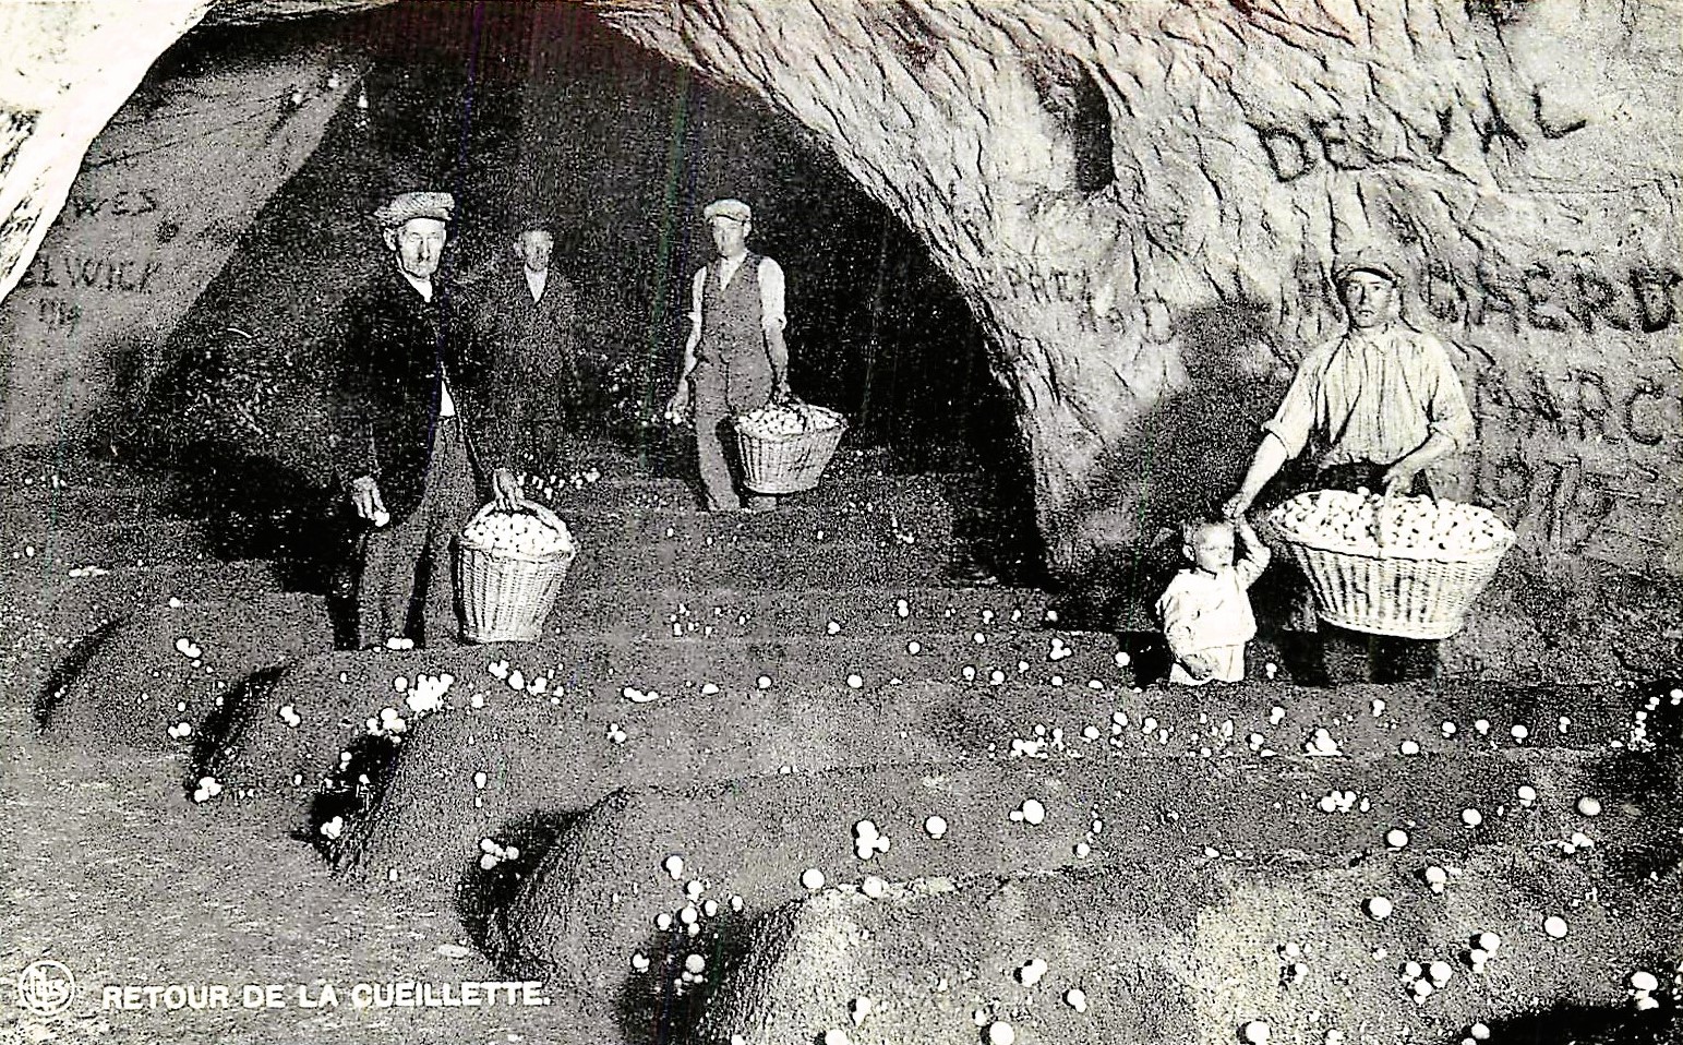
[[[579,301],[572,283],[554,266],[534,301],[525,269],[503,268],[490,279],[481,326],[491,332],[505,372],[518,387],[522,414],[555,421],[579,397]]]

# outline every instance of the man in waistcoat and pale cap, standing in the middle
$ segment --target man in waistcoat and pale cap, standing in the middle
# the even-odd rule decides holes
[[[690,338],[666,411],[695,421],[703,507],[759,512],[778,498],[741,488],[724,427],[734,414],[789,395],[783,268],[747,249],[754,214],[742,200],[714,200],[702,217],[719,257],[697,269],[690,284]]]

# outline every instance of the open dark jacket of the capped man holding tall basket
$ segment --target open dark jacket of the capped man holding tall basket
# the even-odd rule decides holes
[[[434,278],[426,301],[389,264],[345,298],[338,330],[333,416],[342,483],[370,475],[394,518],[414,512],[438,421],[439,367],[481,483],[490,469],[512,464],[507,375],[443,279]]]

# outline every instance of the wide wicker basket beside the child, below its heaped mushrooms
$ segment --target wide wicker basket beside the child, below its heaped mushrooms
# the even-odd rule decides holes
[[[1287,537],[1274,513],[1266,518],[1266,532],[1269,544],[1282,547],[1308,576],[1323,621],[1410,639],[1442,639],[1461,631],[1473,599],[1513,545],[1513,533],[1506,532],[1493,547],[1466,559],[1383,547],[1375,554],[1331,540]]]

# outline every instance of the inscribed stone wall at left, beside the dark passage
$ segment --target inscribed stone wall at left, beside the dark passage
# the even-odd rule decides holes
[[[0,284],[10,291],[0,342],[27,347],[5,369],[0,443],[82,436],[114,406],[146,397],[170,363],[170,333],[263,204],[315,150],[352,81],[342,59],[296,47],[226,54],[153,77],[133,96],[133,84],[84,84],[56,101],[71,108],[82,91],[119,89],[123,108],[82,146],[69,204],[34,257]],[[226,332],[222,340],[261,333]],[[273,424],[244,421],[257,432]]]

